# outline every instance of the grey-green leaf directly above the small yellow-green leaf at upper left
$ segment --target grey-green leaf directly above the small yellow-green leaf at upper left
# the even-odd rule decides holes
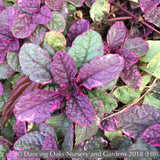
[[[51,21],[45,25],[49,30],[63,32],[66,27],[66,21],[63,15],[57,11],[52,12]]]

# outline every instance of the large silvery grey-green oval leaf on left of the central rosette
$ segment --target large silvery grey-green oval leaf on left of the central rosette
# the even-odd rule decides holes
[[[52,76],[52,59],[49,53],[38,45],[27,43],[20,49],[20,65],[24,74],[37,83],[48,83]]]

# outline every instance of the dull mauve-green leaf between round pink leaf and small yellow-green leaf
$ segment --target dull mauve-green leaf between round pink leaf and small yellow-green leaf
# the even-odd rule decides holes
[[[38,25],[36,30],[29,37],[30,41],[33,44],[40,45],[42,40],[43,40],[43,37],[44,37],[46,31],[47,31],[46,27],[44,27],[43,25]]]

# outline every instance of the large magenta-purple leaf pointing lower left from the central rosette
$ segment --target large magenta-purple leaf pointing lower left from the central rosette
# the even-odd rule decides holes
[[[62,98],[54,91],[36,89],[22,96],[13,110],[20,121],[41,123],[58,109]]]

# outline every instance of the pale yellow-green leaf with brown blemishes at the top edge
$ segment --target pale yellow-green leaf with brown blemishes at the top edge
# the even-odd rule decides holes
[[[109,13],[109,11],[110,4],[108,3],[108,0],[97,0],[91,6],[90,16],[93,21],[101,21],[105,12]]]

